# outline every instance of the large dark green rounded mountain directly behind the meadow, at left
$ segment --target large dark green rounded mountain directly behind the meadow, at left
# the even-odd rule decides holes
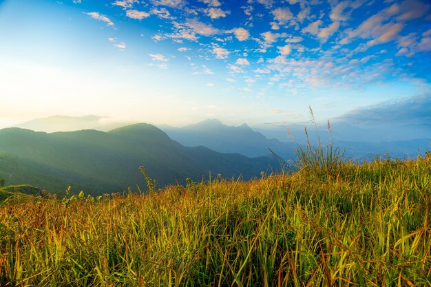
[[[206,147],[183,147],[160,129],[148,124],[121,127],[109,132],[81,130],[47,134],[28,129],[0,130],[0,178],[6,184],[26,183],[50,192],[72,184],[94,194],[135,189],[146,190],[138,171],[144,166],[158,187],[224,177],[258,176],[276,168],[274,157],[246,158]]]

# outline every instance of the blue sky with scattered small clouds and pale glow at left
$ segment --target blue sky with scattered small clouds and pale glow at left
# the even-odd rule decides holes
[[[0,128],[430,123],[426,0],[0,0],[0,36]]]

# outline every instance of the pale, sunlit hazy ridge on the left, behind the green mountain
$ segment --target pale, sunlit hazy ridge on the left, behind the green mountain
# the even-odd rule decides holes
[[[78,131],[81,129],[96,129],[98,131],[109,131],[118,127],[131,125],[132,123],[117,122],[107,116],[49,116],[47,118],[35,118],[28,122],[16,125],[22,129],[33,131]]]

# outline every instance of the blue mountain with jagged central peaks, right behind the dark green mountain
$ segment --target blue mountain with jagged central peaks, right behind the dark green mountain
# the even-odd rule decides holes
[[[222,153],[240,153],[257,157],[271,154],[268,148],[284,159],[295,157],[296,145],[290,142],[265,138],[253,131],[245,123],[239,127],[229,127],[220,120],[208,119],[185,127],[160,126],[170,138],[187,147],[202,145]]]

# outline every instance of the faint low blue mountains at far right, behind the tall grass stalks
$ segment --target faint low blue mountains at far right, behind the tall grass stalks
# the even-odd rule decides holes
[[[431,149],[431,125],[399,125],[396,127],[356,127],[348,123],[331,124],[328,134],[327,127],[309,126],[308,139],[312,145],[320,142],[323,146],[332,142],[335,147],[345,151],[345,157],[353,160],[372,160],[375,156],[390,158],[415,158]],[[266,136],[287,139],[287,128],[256,129]],[[304,126],[294,125],[291,134],[299,145],[306,145]],[[319,137],[317,137],[317,134]]]

